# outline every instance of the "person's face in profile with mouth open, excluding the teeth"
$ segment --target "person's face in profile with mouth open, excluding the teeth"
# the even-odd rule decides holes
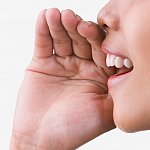
[[[133,64],[108,80],[114,121],[127,132],[150,129],[150,0],[110,0],[98,23],[107,30],[102,49]]]

